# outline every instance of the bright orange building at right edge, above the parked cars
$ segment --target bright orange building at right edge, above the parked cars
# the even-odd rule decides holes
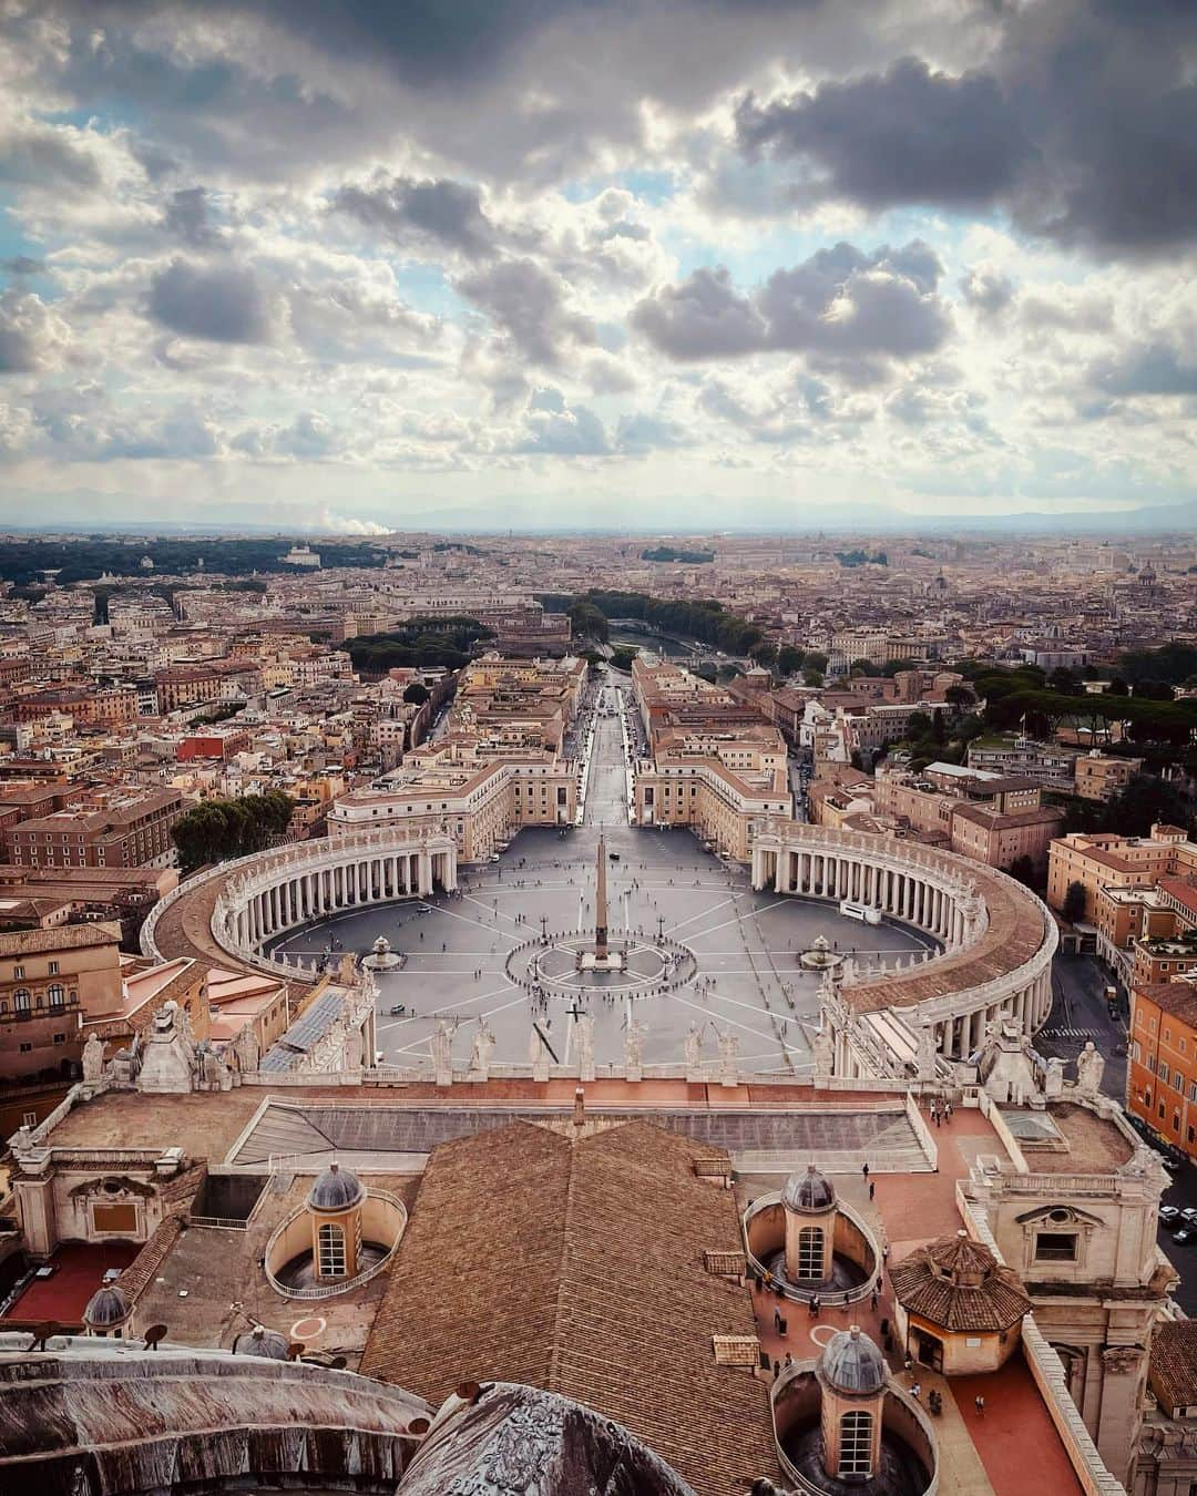
[[[1197,980],[1131,987],[1127,1110],[1197,1158]]]

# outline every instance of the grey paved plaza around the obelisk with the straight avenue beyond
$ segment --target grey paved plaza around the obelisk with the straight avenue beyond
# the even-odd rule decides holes
[[[598,699],[609,709],[616,705],[610,688]],[[628,694],[618,700],[625,708]],[[610,939],[630,942],[633,969],[584,983],[575,980],[572,951],[594,931],[600,835]],[[904,926],[844,919],[827,901],[754,893],[747,869],[724,866],[688,830],[628,826],[618,711],[596,717],[582,826],[524,829],[498,863],[464,869],[456,895],[340,914],[292,931],[271,948],[313,957],[335,942],[335,951],[364,954],[380,935],[405,956],[399,971],[377,978],[383,1064],[431,1062],[429,1038],[447,1020],[453,1059],[464,1067],[485,1019],[495,1037],[492,1062],[527,1065],[543,1043],[557,1064],[569,1065],[576,1062],[575,1016],[585,1011],[594,1019],[600,1073],[622,1067],[634,1017],[646,1031],[645,1065],[679,1064],[687,1034],[697,1028],[706,1061],[730,1032],[745,1073],[808,1077],[820,978],[800,968],[802,951],[820,935],[865,962],[935,948]],[[516,983],[537,954],[534,942],[546,936],[545,980],[528,992]],[[658,948],[673,956],[664,969]],[[399,1005],[404,1011],[392,1013]]]

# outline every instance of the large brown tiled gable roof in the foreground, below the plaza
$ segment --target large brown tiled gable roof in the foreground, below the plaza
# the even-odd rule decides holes
[[[362,1370],[440,1402],[524,1381],[625,1424],[700,1496],[777,1477],[765,1385],[717,1366],[756,1336],[747,1290],[703,1270],[742,1246],[711,1147],[631,1122],[570,1141],[515,1123],[432,1152]]]

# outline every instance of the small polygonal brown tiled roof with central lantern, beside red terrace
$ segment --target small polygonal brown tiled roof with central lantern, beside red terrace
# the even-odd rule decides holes
[[[1017,1273],[962,1233],[920,1246],[889,1278],[907,1313],[944,1330],[1008,1330],[1031,1308]]]

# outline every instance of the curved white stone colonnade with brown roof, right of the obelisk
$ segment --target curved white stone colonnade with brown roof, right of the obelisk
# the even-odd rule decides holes
[[[844,972],[836,1076],[899,1074],[905,1064],[917,1065],[925,1026],[935,1055],[962,1061],[998,1019],[1029,1038],[1052,1010],[1055,920],[1041,899],[995,868],[889,836],[771,820],[753,839],[753,887],[848,899],[943,942],[923,962]]]

